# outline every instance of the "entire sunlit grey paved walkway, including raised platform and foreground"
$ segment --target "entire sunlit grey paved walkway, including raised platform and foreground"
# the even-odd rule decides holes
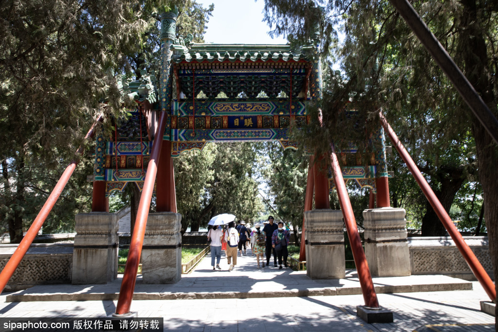
[[[178,300],[133,300],[131,311],[139,317],[163,317],[164,331],[495,331],[495,318],[480,311],[480,301],[488,297],[478,282],[472,282],[471,290],[429,291],[395,294],[378,294],[380,305],[393,312],[394,322],[390,324],[366,324],[356,316],[356,306],[363,305],[362,295],[321,295],[254,298],[196,298],[195,294],[209,294],[217,290],[220,294],[237,294],[251,291],[258,293],[272,289],[298,289],[302,283],[315,288],[332,288],[354,285],[355,275],[350,271],[349,278],[336,281],[313,281],[304,272],[290,269],[278,270],[274,267],[256,269],[251,256],[239,257],[239,267],[227,271],[226,260],[223,271],[212,271],[209,255],[188,276],[182,276],[180,285],[140,285],[135,290],[147,287],[173,293],[183,287],[190,290],[195,299]],[[419,276],[420,277],[420,276]],[[437,285],[438,276],[424,276]],[[410,277],[415,280],[416,277]],[[381,279],[381,280],[379,280]],[[380,281],[393,284],[399,278],[374,278],[375,285]],[[453,278],[450,278],[453,279]],[[184,281],[185,280],[185,281]],[[406,279],[408,280],[408,279]],[[453,279],[457,283],[468,283]],[[293,284],[286,284],[291,283]],[[324,284],[325,283],[325,284]],[[331,284],[330,284],[331,283]],[[388,284],[389,284],[388,283]],[[335,286],[331,286],[334,284]],[[443,283],[444,284],[444,283]],[[107,285],[116,287],[115,284]],[[119,283],[116,284],[119,291]],[[316,287],[319,285],[320,287]],[[323,287],[325,285],[325,287]],[[391,285],[392,286],[392,285]],[[402,286],[402,285],[401,285]],[[72,285],[36,286],[23,294],[65,294],[62,288],[80,287]],[[103,285],[80,287],[83,293],[91,294]],[[176,289],[174,289],[177,287]],[[443,286],[441,286],[443,287]],[[38,289],[36,289],[38,288]],[[43,291],[44,289],[44,291]],[[203,292],[202,292],[203,291]],[[107,292],[107,294],[115,293]],[[145,294],[145,293],[144,293]],[[187,293],[188,294],[188,293]],[[45,301],[45,302],[6,302],[7,296],[0,296],[0,317],[105,317],[116,310],[116,301]],[[285,296],[285,295],[284,295]],[[38,299],[39,300],[39,299]],[[61,298],[60,300],[64,300]]]

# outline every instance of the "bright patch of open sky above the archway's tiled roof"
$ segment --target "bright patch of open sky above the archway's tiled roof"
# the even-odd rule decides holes
[[[208,29],[207,43],[216,44],[286,44],[287,39],[272,39],[263,19],[263,0],[197,0],[204,7],[215,4]]]

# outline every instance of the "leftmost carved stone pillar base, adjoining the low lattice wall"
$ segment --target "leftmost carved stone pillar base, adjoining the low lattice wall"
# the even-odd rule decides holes
[[[118,216],[92,212],[76,215],[72,283],[105,284],[118,277]]]

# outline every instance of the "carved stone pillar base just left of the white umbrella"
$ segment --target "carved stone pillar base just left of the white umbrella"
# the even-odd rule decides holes
[[[142,246],[142,282],[174,284],[182,274],[182,215],[149,213]]]

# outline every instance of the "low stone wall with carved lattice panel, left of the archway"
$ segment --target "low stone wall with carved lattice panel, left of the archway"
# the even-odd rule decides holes
[[[17,244],[0,244],[0,270],[16,248]],[[70,284],[73,249],[72,243],[31,244],[5,290],[16,291],[42,284]]]

